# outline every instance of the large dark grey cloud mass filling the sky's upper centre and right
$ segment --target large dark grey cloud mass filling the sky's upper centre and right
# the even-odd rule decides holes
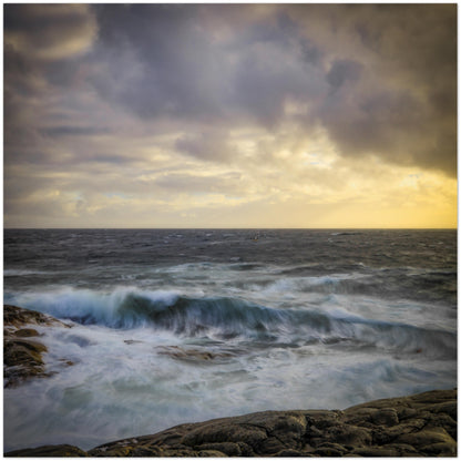
[[[455,6],[263,8],[99,6],[93,83],[141,117],[269,130],[291,99],[344,155],[455,174]]]

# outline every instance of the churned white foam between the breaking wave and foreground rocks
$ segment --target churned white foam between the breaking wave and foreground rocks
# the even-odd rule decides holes
[[[204,361],[165,354],[175,350],[171,347],[201,348],[168,331],[79,325],[40,331],[50,350],[47,366],[57,375],[4,390],[7,450],[23,447],[24,440],[29,447],[89,449],[184,421],[267,408],[345,408],[444,387],[455,376],[450,363],[443,368],[418,355],[392,357],[386,350],[351,355],[347,344],[259,350],[235,345],[228,359]],[[230,346],[215,342],[206,350],[228,352]]]

